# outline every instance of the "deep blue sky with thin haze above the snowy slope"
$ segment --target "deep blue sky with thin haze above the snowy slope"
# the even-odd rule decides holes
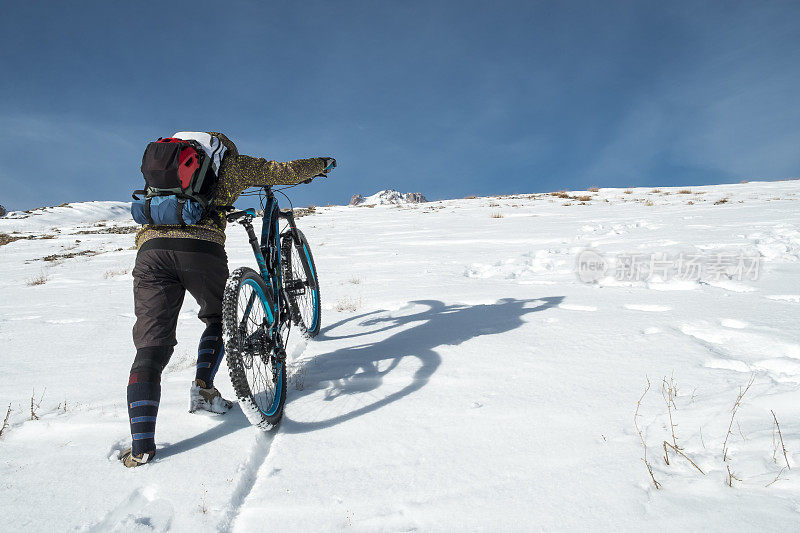
[[[129,198],[178,130],[333,155],[297,203],[800,175],[798,2],[40,2],[0,18],[0,203]]]

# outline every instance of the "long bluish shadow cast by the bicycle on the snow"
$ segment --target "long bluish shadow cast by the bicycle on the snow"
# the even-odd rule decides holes
[[[326,409],[319,404],[307,410],[289,409],[284,414],[281,432],[304,433],[330,427],[396,402],[425,386],[439,367],[441,357],[435,348],[458,345],[481,335],[506,333],[521,326],[525,315],[555,307],[563,300],[563,296],[529,300],[505,298],[486,305],[445,305],[438,300],[419,300],[410,302],[409,307],[423,306],[425,309],[422,311],[410,314],[373,311],[337,322],[325,328],[317,340],[358,339],[387,331],[395,333],[379,341],[348,346],[308,361],[304,367],[303,390],[290,389],[288,402],[302,403],[304,397],[320,390],[323,401],[343,396],[358,396],[358,400],[346,407],[346,412],[341,412],[343,404],[339,402],[335,410],[331,409],[333,413],[330,416],[326,416]],[[364,331],[342,336],[332,334],[337,328],[357,321],[365,328]],[[401,363],[405,364],[407,358],[419,360],[419,367],[410,383],[370,401],[387,374]]]

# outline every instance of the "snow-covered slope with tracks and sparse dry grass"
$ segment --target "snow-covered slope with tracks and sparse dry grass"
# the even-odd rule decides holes
[[[318,207],[298,224],[323,330],[280,428],[186,412],[187,297],[159,454],[132,470],[127,204],[11,213],[2,529],[796,531],[799,200],[786,181]],[[236,225],[227,248],[253,263]]]

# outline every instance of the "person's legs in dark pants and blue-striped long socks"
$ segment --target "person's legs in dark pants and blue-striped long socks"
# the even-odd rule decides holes
[[[145,242],[133,269],[136,358],[128,379],[128,414],[133,453],[155,451],[161,372],[177,344],[175,329],[188,290],[206,323],[198,349],[197,379],[211,386],[222,359],[222,296],[228,259],[222,245],[196,239]]]

